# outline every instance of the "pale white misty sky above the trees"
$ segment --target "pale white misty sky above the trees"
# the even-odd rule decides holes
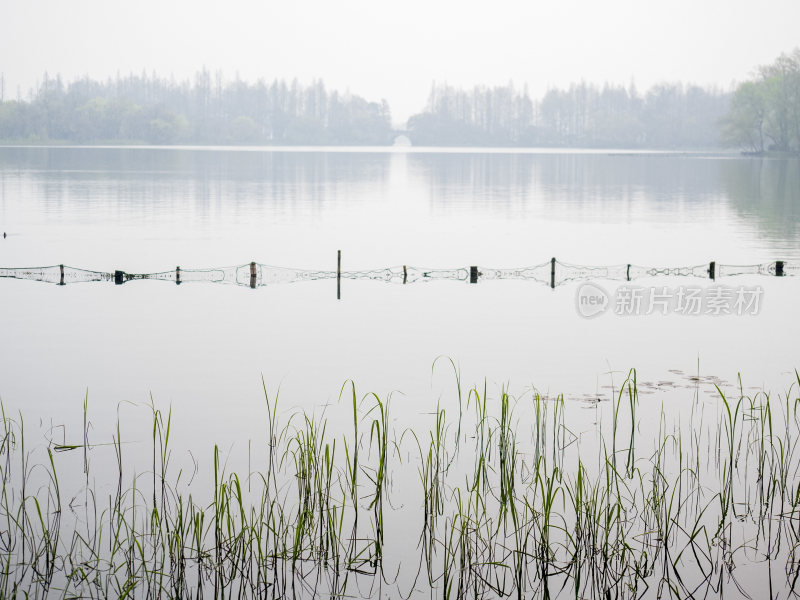
[[[800,0],[0,0],[0,72],[6,99],[45,71],[321,77],[386,98],[400,122],[433,80],[727,88],[800,46],[798,23]]]

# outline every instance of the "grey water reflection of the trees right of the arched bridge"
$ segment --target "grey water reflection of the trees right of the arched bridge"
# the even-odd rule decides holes
[[[722,160],[678,155],[417,154],[415,174],[429,182],[442,211],[458,203],[503,212],[521,203],[527,212],[614,220],[611,211],[647,203],[654,211],[722,202]],[[667,206],[669,205],[669,206]],[[577,209],[577,210],[576,210]]]

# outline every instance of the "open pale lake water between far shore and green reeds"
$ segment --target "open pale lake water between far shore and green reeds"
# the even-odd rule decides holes
[[[131,450],[145,464],[150,416],[128,403],[142,407],[152,398],[172,408],[178,456],[193,448],[207,458],[217,443],[231,464],[242,464],[245,440],[264,435],[262,377],[287,411],[327,407],[336,431],[352,421],[339,403],[346,381],[359,396],[391,393],[398,429],[424,423],[427,430],[437,402],[454,414],[450,360],[465,391],[485,382],[495,395],[564,394],[566,423],[576,432],[602,421],[597,410],[610,408],[596,403],[610,407],[631,368],[639,414],[684,415],[684,425],[692,402],[718,406],[716,386],[737,394],[740,373],[749,394],[796,385],[796,159],[5,147],[0,229],[7,232],[0,268],[157,273],[255,261],[323,272],[257,289],[0,278],[6,413],[22,411],[51,442],[75,442],[86,431],[88,397],[96,443],[111,441],[120,413],[131,430],[145,423],[144,434],[133,434],[144,450]],[[345,276],[337,299],[331,276],[339,250]],[[559,261],[552,289],[551,257]],[[710,261],[722,269],[714,281],[705,276]],[[790,276],[775,277],[775,261],[785,261]],[[388,267],[396,275],[404,265],[419,279],[367,276]],[[477,284],[464,278],[473,265],[483,273]],[[623,271],[595,278],[577,267],[605,265]],[[620,278],[627,265],[630,282]],[[528,267],[535,276],[514,276]],[[694,268],[695,276],[648,273],[655,267]],[[745,273],[723,276],[737,269]],[[422,276],[437,272],[449,275]],[[609,302],[591,318],[581,304],[586,283]],[[621,299],[633,288],[643,303],[625,310]],[[711,304],[699,314],[677,308],[687,292],[711,302],[719,290],[731,302],[742,293],[753,300],[757,291],[758,304],[729,303],[720,314]],[[110,451],[95,463],[101,473],[113,467]],[[205,475],[199,470],[207,481],[207,467]],[[412,553],[415,541],[406,540]]]

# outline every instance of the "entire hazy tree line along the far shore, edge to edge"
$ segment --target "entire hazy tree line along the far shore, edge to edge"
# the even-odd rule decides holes
[[[0,102],[0,140],[23,143],[385,145],[399,133],[421,146],[800,152],[800,49],[733,92],[580,83],[532,99],[513,83],[434,83],[425,109],[402,130],[392,129],[385,100],[328,91],[321,80],[225,81],[206,69],[182,81],[142,73],[65,84],[45,75],[27,100]]]

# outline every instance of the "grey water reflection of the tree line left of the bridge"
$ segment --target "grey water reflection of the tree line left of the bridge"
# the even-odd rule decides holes
[[[18,178],[50,213],[214,218],[222,210],[313,212],[357,202],[365,189],[386,184],[390,158],[325,151],[3,148],[0,173],[4,180]]]

